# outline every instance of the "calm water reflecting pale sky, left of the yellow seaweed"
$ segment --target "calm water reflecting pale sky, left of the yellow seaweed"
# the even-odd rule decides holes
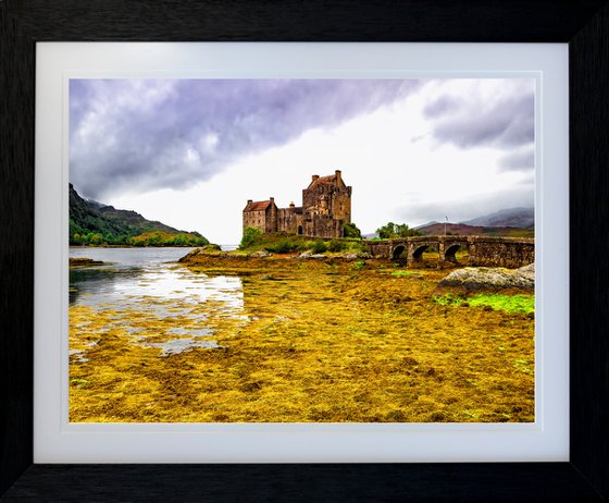
[[[135,343],[159,347],[161,356],[192,347],[219,347],[214,340],[214,318],[244,318],[241,280],[209,278],[177,266],[175,260],[187,252],[175,248],[71,249],[72,257],[88,257],[104,263],[70,270],[70,304],[112,311],[109,318],[113,327],[126,331]],[[77,323],[71,319],[71,329],[94,333],[87,326],[87,321]],[[147,327],[157,327],[157,330]],[[77,357],[75,361],[85,358],[82,351],[74,352],[73,356]]]

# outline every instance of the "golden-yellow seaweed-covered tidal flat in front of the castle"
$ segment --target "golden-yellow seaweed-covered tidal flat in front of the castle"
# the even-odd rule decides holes
[[[71,421],[534,420],[534,315],[505,300],[532,305],[532,293],[455,302],[437,289],[448,271],[425,262],[209,256],[172,268],[226,295],[71,305]]]

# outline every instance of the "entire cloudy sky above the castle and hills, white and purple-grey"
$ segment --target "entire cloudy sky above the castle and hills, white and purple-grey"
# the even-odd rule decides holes
[[[343,171],[363,233],[534,201],[533,79],[73,79],[86,198],[238,243],[247,199]]]

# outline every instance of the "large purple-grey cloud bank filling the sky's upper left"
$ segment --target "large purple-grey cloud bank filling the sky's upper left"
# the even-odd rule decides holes
[[[86,197],[183,188],[414,93],[419,81],[74,79],[70,179]]]

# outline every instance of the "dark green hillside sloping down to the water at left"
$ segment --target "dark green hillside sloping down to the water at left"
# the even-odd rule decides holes
[[[141,214],[86,200],[70,184],[71,245],[204,246],[198,232],[185,232]]]

